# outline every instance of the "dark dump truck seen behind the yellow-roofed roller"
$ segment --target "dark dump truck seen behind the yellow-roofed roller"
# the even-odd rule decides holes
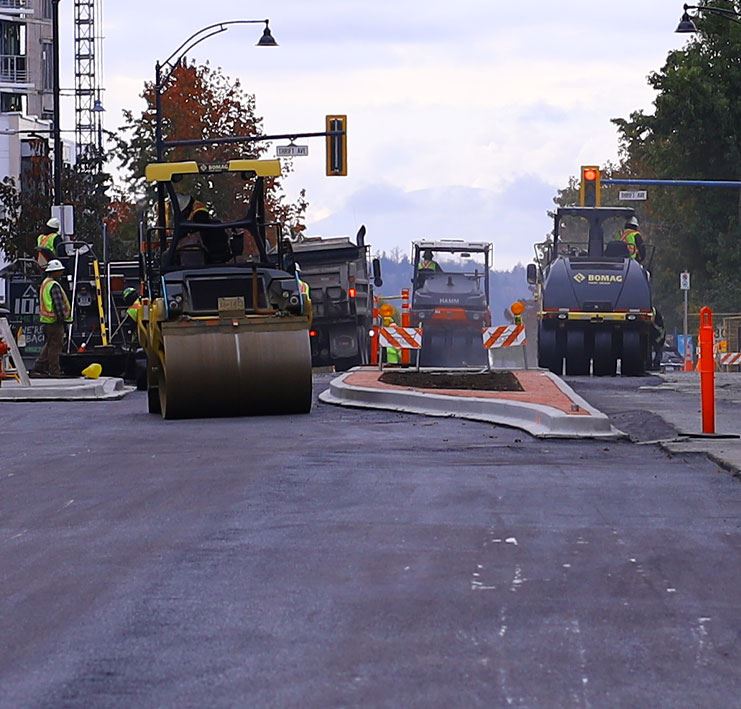
[[[368,364],[373,327],[373,286],[381,265],[369,258],[365,226],[355,242],[347,237],[302,237],[293,244],[301,280],[310,289],[313,321],[311,361],[343,371]]]

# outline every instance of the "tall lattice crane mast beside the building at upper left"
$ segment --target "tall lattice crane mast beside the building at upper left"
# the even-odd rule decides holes
[[[75,0],[75,141],[77,162],[89,170],[102,165],[103,0]]]

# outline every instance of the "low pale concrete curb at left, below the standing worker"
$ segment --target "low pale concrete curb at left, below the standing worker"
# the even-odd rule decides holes
[[[122,399],[135,390],[118,377],[98,379],[32,379],[31,386],[5,381],[0,402],[6,401],[105,401]]]

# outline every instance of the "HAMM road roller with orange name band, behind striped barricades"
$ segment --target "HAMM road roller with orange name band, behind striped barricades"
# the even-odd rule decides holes
[[[445,265],[433,260],[446,256]],[[487,242],[446,239],[412,244],[412,325],[422,326],[420,365],[479,367],[487,354],[482,330],[491,325],[489,273],[493,246]]]

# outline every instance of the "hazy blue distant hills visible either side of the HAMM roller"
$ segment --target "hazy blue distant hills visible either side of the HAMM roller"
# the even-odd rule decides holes
[[[402,288],[411,288],[412,264],[408,256],[387,256],[381,254],[381,273],[383,286],[376,288],[376,295],[399,295]],[[440,262],[445,268],[445,261]],[[451,264],[450,270],[455,271],[460,264]],[[528,300],[532,297],[525,277],[525,267],[515,266],[510,271],[492,271],[489,277],[491,294],[492,322],[505,323],[504,311],[515,300]]]

